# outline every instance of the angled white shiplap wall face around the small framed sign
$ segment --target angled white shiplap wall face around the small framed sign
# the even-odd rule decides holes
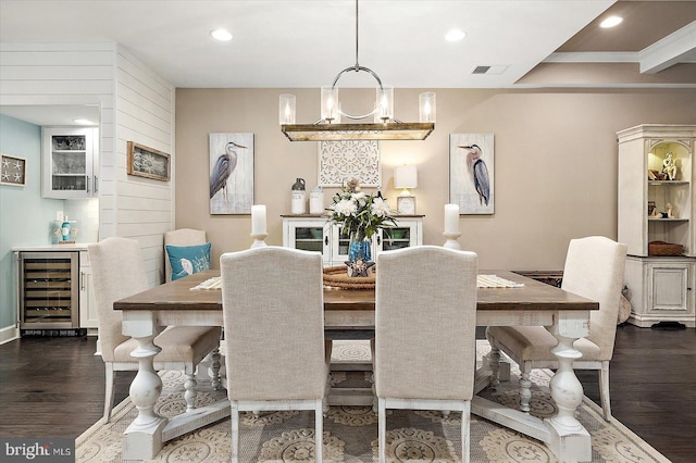
[[[175,88],[123,47],[117,49],[116,65],[116,151],[112,160],[116,203],[105,203],[100,215],[113,223],[119,236],[140,241],[152,286],[164,279],[163,235],[174,224],[174,171],[170,182],[127,175],[127,142],[169,153],[170,166],[174,165]]]

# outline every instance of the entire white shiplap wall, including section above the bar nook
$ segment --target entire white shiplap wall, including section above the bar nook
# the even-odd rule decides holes
[[[172,154],[175,89],[114,42],[0,43],[0,105],[99,104],[99,238],[140,241],[150,285],[163,280],[173,178],[126,174],[127,141]]]

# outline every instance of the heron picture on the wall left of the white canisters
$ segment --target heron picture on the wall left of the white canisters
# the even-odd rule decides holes
[[[210,134],[210,213],[250,214],[253,134]]]

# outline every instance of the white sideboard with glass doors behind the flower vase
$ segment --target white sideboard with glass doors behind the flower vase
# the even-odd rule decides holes
[[[423,215],[398,215],[396,227],[380,232],[372,239],[372,259],[377,252],[423,245]],[[315,214],[283,215],[283,246],[320,251],[325,266],[341,265],[348,260],[349,236]]]

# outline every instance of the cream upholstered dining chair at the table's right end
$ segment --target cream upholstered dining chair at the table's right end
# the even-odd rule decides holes
[[[561,288],[599,302],[591,312],[589,335],[577,339],[575,349],[582,358],[575,370],[599,371],[599,396],[602,415],[611,417],[609,399],[609,361],[613,354],[617,316],[626,260],[626,246],[601,236],[573,239],[568,247]],[[532,368],[558,368],[551,352],[558,340],[543,326],[490,326],[486,337],[520,365],[520,410],[530,411]]]

